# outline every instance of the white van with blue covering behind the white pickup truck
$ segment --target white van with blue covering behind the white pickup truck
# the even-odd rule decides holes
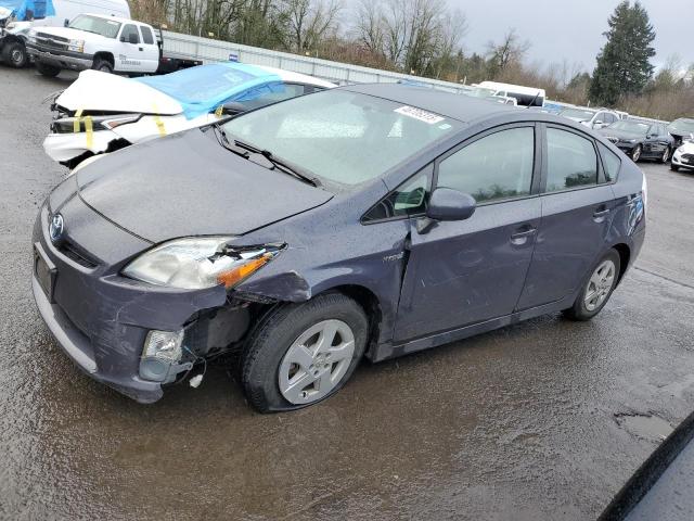
[[[13,67],[29,60],[26,39],[31,27],[64,27],[82,13],[130,18],[126,0],[4,0],[0,3],[0,59]]]

